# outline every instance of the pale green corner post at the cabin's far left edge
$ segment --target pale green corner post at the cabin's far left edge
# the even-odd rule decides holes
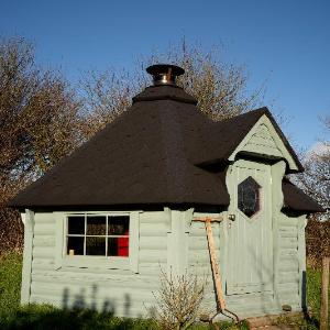
[[[32,210],[25,209],[25,213],[22,215],[22,221],[24,222],[24,252],[22,267],[21,304],[29,304],[32,275],[34,212]]]

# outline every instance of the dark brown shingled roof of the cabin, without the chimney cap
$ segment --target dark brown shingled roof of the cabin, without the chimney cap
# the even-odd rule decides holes
[[[177,86],[147,87],[125,113],[21,191],[10,206],[228,206],[223,175],[204,165],[226,162],[263,114],[275,121],[262,108],[213,122]],[[279,130],[276,123],[275,128]],[[302,168],[298,160],[297,164]]]

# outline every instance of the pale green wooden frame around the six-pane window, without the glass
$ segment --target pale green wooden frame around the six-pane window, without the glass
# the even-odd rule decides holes
[[[55,270],[63,267],[127,270],[139,273],[140,211],[54,212],[56,219]],[[130,217],[129,256],[67,255],[67,218],[77,216]]]

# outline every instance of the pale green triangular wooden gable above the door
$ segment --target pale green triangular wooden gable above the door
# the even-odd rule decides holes
[[[297,164],[266,114],[260,118],[246,136],[240,142],[230,155],[229,161],[234,161],[238,153],[241,152],[284,158],[290,170],[299,172],[299,164]]]

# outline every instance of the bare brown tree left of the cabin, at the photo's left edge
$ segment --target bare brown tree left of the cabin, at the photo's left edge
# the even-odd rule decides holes
[[[33,45],[20,37],[0,41],[0,252],[22,240],[7,200],[74,150],[78,110],[65,79],[37,67]]]

